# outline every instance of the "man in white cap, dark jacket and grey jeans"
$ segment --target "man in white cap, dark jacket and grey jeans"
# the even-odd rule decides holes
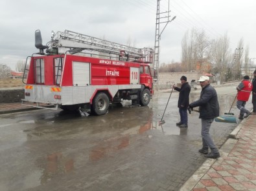
[[[218,117],[220,114],[220,107],[218,105],[218,96],[215,88],[210,85],[208,76],[201,76],[198,80],[200,82],[200,86],[202,87],[200,99],[198,101],[194,101],[189,105],[189,109],[199,106],[199,118],[202,121],[202,141],[203,147],[198,150],[203,154],[206,154],[205,157],[216,159],[220,157],[220,153],[218,152],[218,148],[216,147],[213,139],[209,134],[209,130],[211,127],[211,123],[213,123],[213,119]],[[208,149],[211,149],[211,152],[208,154]]]

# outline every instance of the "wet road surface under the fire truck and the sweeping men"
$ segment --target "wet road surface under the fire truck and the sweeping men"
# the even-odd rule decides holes
[[[235,87],[216,88],[220,113]],[[0,190],[178,190],[204,163],[201,123],[179,128],[178,92],[157,93],[150,105],[110,108],[104,116],[34,110],[0,116]],[[191,91],[191,101],[200,90]],[[252,108],[250,102],[246,105]],[[238,116],[235,104],[231,110]],[[236,127],[211,126],[220,147]]]

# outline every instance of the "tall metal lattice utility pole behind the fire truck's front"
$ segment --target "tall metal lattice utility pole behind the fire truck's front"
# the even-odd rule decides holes
[[[157,0],[157,9],[156,9],[156,35],[155,35],[155,46],[154,46],[154,63],[153,63],[153,69],[154,69],[154,83],[157,83],[157,88],[158,88],[158,69],[159,69],[159,53],[160,53],[160,38],[161,38],[161,34],[163,33],[163,30],[165,30],[165,27],[168,25],[168,23],[170,23],[171,21],[173,21],[175,17],[173,17],[171,20],[170,19],[170,1],[169,1],[169,5],[168,5],[168,11],[166,12],[161,12],[160,13],[160,1],[161,0]],[[165,16],[160,16],[162,14],[167,14]],[[163,21],[160,22],[160,19],[165,19],[167,21]],[[160,24],[161,23],[166,23],[165,27],[163,28],[163,30],[160,33]]]

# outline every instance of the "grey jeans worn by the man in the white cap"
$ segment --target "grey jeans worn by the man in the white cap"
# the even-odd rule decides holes
[[[213,123],[212,119],[201,119],[202,122],[202,140],[203,140],[203,148],[207,150],[208,148],[211,148],[211,152],[218,153],[218,148],[216,147],[215,143],[213,143],[213,139],[211,138],[209,134],[209,130],[211,127],[211,123]]]

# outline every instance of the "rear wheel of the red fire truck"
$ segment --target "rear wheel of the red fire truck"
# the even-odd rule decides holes
[[[99,93],[93,99],[93,114],[100,116],[106,114],[108,111],[108,107],[110,106],[110,100],[108,99],[108,95],[105,93]]]

